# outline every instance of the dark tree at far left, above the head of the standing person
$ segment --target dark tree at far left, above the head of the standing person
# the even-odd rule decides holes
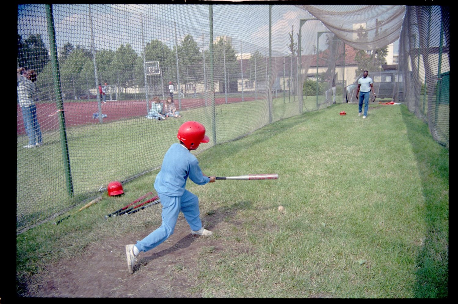
[[[39,73],[48,61],[48,49],[39,34],[30,34],[24,41],[21,35],[17,35],[17,64],[19,66]]]

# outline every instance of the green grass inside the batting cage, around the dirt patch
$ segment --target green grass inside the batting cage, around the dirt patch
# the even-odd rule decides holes
[[[188,295],[448,296],[448,150],[404,105],[370,105],[366,119],[357,112],[356,104],[332,105],[197,155],[207,175],[278,173],[279,178],[217,181],[211,187],[188,182],[204,219],[230,214],[224,219],[228,228],[214,236],[227,250],[215,256],[202,248],[195,260],[198,283]],[[243,135],[242,129],[235,132]],[[84,214],[17,236],[16,293],[23,293],[24,284],[39,284],[46,263],[78,256],[90,243],[158,227],[160,215],[148,212],[136,214],[135,222],[103,219],[140,193],[154,191],[157,173],[126,183],[123,197],[104,194]],[[235,243],[246,250],[234,252]]]

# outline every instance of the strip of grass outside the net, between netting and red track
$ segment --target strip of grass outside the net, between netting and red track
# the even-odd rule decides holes
[[[221,97],[221,96],[219,96]],[[324,97],[320,96],[320,102]],[[76,102],[76,101],[75,101]],[[326,107],[325,104],[321,104]],[[298,115],[297,97],[273,100],[273,122]],[[304,99],[304,111],[316,110],[316,98]],[[120,109],[121,111],[121,109]],[[158,168],[162,156],[176,140],[176,131],[186,120],[198,120],[216,142],[224,143],[240,138],[269,123],[266,99],[229,103],[213,108],[203,107],[182,111],[183,118],[166,121],[147,120],[144,116],[67,128],[68,151],[73,183],[73,197],[69,198],[65,180],[65,166],[59,131],[44,133],[44,146],[23,149],[27,136],[17,138],[16,159],[16,228],[27,222],[44,220],[51,215],[81,203],[112,180],[125,180],[151,168]],[[145,158],[145,153],[150,157]],[[28,204],[34,201],[33,205]]]

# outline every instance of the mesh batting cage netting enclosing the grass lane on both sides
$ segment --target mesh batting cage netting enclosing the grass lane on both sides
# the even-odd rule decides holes
[[[202,152],[357,102],[364,70],[449,146],[448,7],[17,8],[17,233],[158,169],[183,122]]]

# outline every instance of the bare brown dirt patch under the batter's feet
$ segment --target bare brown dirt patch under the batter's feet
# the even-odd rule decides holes
[[[214,232],[225,231],[234,224],[215,218],[211,222],[213,226],[207,228]],[[202,294],[192,288],[197,285],[197,261],[207,259],[209,252],[228,250],[223,239],[191,235],[189,225],[180,216],[174,234],[158,247],[140,253],[134,273],[129,275],[124,247],[135,239],[127,235],[92,243],[82,256],[48,265],[40,282],[29,286],[25,296],[199,298]],[[234,250],[233,246],[230,250]]]

